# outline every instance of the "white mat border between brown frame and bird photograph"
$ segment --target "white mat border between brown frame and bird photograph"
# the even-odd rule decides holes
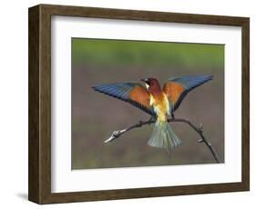
[[[225,164],[72,171],[71,37],[224,44]],[[53,16],[51,86],[53,193],[241,182],[241,27]]]

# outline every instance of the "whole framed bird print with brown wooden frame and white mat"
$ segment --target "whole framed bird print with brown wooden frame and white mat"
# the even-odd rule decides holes
[[[250,188],[249,18],[29,8],[37,204]]]

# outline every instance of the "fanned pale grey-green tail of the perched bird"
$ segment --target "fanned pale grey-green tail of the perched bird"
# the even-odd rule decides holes
[[[181,140],[177,134],[174,133],[168,122],[157,120],[148,145],[165,148],[169,152],[169,150],[179,144],[181,144]]]

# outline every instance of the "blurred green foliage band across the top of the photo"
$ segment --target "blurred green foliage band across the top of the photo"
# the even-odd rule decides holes
[[[139,45],[138,45],[139,44]],[[73,62],[90,66],[129,66],[220,68],[224,45],[72,39]]]

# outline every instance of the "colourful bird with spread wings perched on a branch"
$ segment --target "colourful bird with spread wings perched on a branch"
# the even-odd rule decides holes
[[[157,78],[149,77],[138,82],[96,85],[92,88],[102,94],[115,97],[138,107],[155,119],[148,145],[166,149],[168,152],[181,144],[178,135],[168,123],[188,93],[213,79],[213,75],[184,75],[170,77],[161,88]]]

